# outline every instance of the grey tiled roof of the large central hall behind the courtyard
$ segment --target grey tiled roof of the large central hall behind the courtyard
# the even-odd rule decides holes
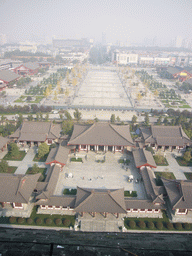
[[[94,123],[93,125],[74,125],[68,144],[72,145],[109,145],[135,146],[128,125]]]

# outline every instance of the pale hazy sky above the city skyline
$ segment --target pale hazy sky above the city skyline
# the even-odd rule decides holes
[[[192,0],[0,0],[0,33],[10,40],[93,38],[167,44],[192,39]]]

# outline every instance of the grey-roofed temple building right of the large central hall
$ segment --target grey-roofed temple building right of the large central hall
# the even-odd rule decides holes
[[[140,128],[141,138],[137,142],[143,146],[150,146],[156,150],[162,149],[185,149],[192,141],[185,134],[181,126],[151,125]]]

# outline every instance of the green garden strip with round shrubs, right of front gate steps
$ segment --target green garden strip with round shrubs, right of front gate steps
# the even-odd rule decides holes
[[[154,230],[154,231],[189,231],[190,223],[171,223],[163,212],[163,218],[125,218],[124,225],[127,230]]]

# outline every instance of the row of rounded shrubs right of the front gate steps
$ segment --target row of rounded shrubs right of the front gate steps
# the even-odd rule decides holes
[[[190,225],[189,223],[171,223],[171,222],[153,222],[153,221],[138,221],[135,222],[134,220],[129,220],[128,221],[128,228],[131,229],[135,229],[137,227],[141,228],[141,229],[158,229],[158,230],[162,230],[164,227],[167,228],[168,230],[190,230],[192,228],[192,225]]]

